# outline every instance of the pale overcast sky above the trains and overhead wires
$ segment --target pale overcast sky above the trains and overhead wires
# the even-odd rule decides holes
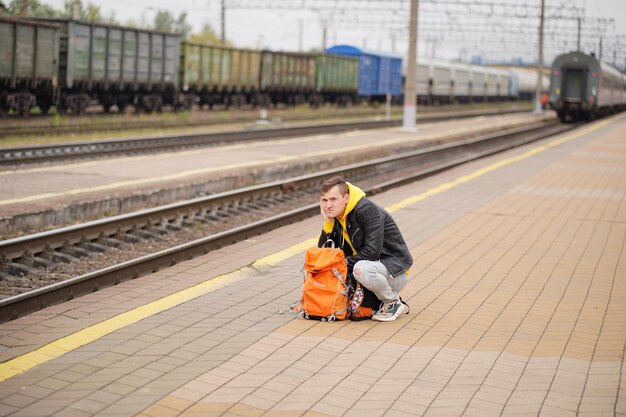
[[[43,3],[61,8],[64,0],[41,0]],[[169,10],[175,15],[187,12],[187,21],[195,31],[199,31],[204,23],[209,23],[214,30],[220,32],[220,0],[83,0],[90,1],[101,7],[105,13],[115,13],[120,22],[132,19],[136,22],[151,21],[157,9]],[[387,5],[385,4],[387,1]],[[464,0],[472,3],[473,0]],[[540,0],[482,0],[476,3],[493,2],[503,4],[512,2],[517,7],[520,4],[537,3]],[[343,5],[344,9],[365,8],[372,2],[359,5],[357,0],[335,0],[330,2],[320,0],[320,10],[263,10],[268,4],[316,4],[311,0],[226,0],[232,7],[226,10],[226,37],[238,47],[268,48],[274,50],[310,50],[321,49],[323,45],[322,22],[330,21],[326,32],[326,46],[335,44],[351,44],[364,46],[381,51],[396,52],[406,55],[408,50],[408,31],[406,23],[398,28],[400,21],[408,15],[409,0],[381,0],[378,7],[395,7],[395,14],[380,12],[379,10],[353,13],[338,12],[336,9],[324,10],[324,6]],[[525,63],[535,60],[537,54],[536,32],[527,33],[532,23],[513,17],[490,18],[478,22],[477,26],[467,29],[468,20],[478,20],[467,16],[458,3],[451,0],[421,0],[418,54],[439,59],[458,59],[470,61],[472,57],[482,56],[487,61],[498,59],[513,60],[519,57]],[[253,8],[244,9],[243,7]],[[395,5],[395,6],[394,6]],[[589,22],[598,22],[598,19],[613,19],[614,24],[588,23],[583,28],[583,51],[594,49],[598,54],[600,48],[598,39],[603,36],[603,59],[612,62],[620,68],[626,66],[626,0],[546,0],[547,6],[560,8],[563,15],[568,15],[568,8],[572,5],[584,10],[584,16]],[[336,7],[336,6],[332,6]],[[513,10],[515,8],[511,8]],[[446,16],[443,16],[443,15]],[[569,13],[571,15],[571,13]],[[355,16],[358,16],[355,17]],[[385,17],[386,16],[386,17]],[[443,16],[443,17],[442,17]],[[448,23],[437,26],[436,21],[447,19]],[[408,21],[408,17],[406,18]],[[355,23],[355,20],[357,21]],[[576,23],[570,20],[553,19],[546,21],[546,29],[560,32],[561,35],[571,33],[569,39],[556,39],[556,35],[546,35],[548,44],[545,47],[544,60],[549,64],[558,53],[567,52],[575,45]],[[458,22],[456,27],[445,26],[449,22]],[[430,26],[429,26],[430,25]],[[433,29],[433,26],[436,29]],[[443,26],[442,26],[443,25]],[[471,26],[471,25],[470,25]],[[536,25],[535,25],[536,27]],[[563,29],[565,27],[565,29]],[[393,28],[393,29],[392,29]],[[603,29],[600,29],[603,28]],[[485,35],[485,30],[489,33]],[[603,30],[603,32],[602,32]],[[472,31],[465,33],[465,31]],[[506,32],[506,33],[503,33]],[[458,33],[461,32],[461,33]],[[554,32],[556,33],[556,32]],[[617,37],[618,40],[615,40]],[[532,40],[528,40],[531,38]],[[520,41],[522,39],[522,41]],[[525,39],[525,40],[524,40]],[[533,45],[534,44],[534,45]]]

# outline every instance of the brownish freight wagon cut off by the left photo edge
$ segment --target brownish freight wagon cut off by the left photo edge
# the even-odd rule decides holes
[[[0,16],[0,116],[22,117],[56,100],[59,56],[57,25]]]

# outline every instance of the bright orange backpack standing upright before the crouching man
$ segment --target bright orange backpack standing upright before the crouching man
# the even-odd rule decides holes
[[[300,316],[322,321],[345,319],[349,302],[347,276],[343,250],[308,249],[304,258]]]

